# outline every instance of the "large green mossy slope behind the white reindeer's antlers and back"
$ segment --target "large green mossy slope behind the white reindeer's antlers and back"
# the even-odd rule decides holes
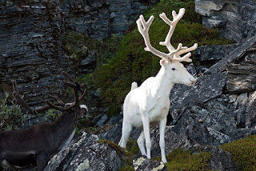
[[[198,23],[198,14],[194,12],[194,1],[164,0],[153,8],[146,10],[146,20],[151,14],[155,15],[154,22],[150,26],[150,42],[156,49],[167,52],[165,46],[158,43],[166,38],[170,27],[158,17],[162,11],[171,18],[171,10],[178,13],[180,7],[186,7],[186,14],[178,22],[174,30],[171,44],[174,47],[182,42],[184,46],[193,46],[198,42],[199,46],[228,44],[229,41],[219,38],[217,30],[205,28]],[[159,58],[144,50],[145,44],[142,35],[135,29],[126,34],[121,42],[117,54],[109,63],[98,68],[94,72],[94,85],[102,90],[102,105],[109,107],[108,115],[117,115],[121,110],[126,94],[130,91],[132,82],[142,82],[157,74],[160,69]]]

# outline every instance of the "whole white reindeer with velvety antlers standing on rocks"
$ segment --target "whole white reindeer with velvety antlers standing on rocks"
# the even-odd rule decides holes
[[[151,16],[147,22],[145,22],[142,15],[138,18],[138,30],[144,38],[146,44],[145,50],[162,58],[160,61],[160,65],[162,67],[155,77],[147,78],[141,86],[138,87],[137,83],[134,82],[123,105],[122,137],[119,145],[126,148],[126,142],[130,136],[131,130],[133,127],[140,127],[142,128],[142,133],[138,137],[138,147],[141,150],[142,155],[146,155],[146,157],[150,158],[150,128],[159,124],[159,145],[161,148],[162,161],[164,163],[167,162],[164,138],[166,117],[168,110],[170,109],[170,90],[173,88],[175,83],[192,86],[196,81],[195,78],[187,72],[182,63],[180,63],[192,62],[190,59],[191,54],[188,53],[182,58],[180,55],[190,52],[191,50],[195,50],[198,47],[198,44],[195,43],[194,46],[187,48],[186,46],[182,46],[180,43],[176,50],[170,44],[170,38],[174,33],[174,28],[184,13],[184,8],[180,9],[178,14],[173,11],[173,21],[166,18],[166,14],[164,13],[159,15],[160,18],[170,26],[165,42],[159,43],[160,45],[167,47],[170,51],[169,54],[165,54],[154,49],[150,44],[148,32],[154,17]],[[144,148],[144,140],[146,140],[146,151]]]

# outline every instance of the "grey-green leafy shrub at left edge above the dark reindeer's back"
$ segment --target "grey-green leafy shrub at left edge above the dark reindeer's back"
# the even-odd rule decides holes
[[[22,113],[19,105],[8,101],[9,94],[5,93],[0,101],[0,130],[20,129],[26,120],[26,114]],[[10,102],[11,105],[7,103]]]

